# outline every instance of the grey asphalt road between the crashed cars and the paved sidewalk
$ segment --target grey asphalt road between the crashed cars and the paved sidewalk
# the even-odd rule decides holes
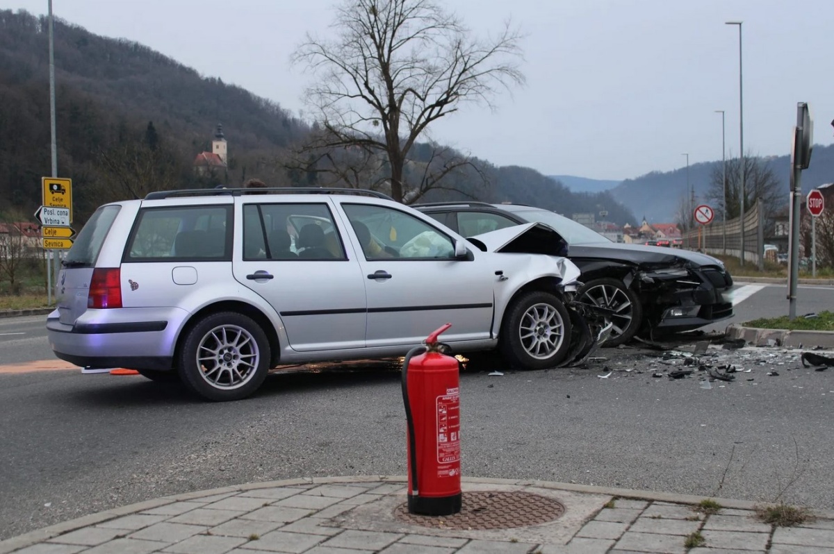
[[[783,291],[763,287],[737,311],[779,315],[773,298]],[[812,308],[800,312],[831,309],[830,288],[802,294]],[[0,364],[51,354],[38,327],[43,317],[0,319]],[[605,359],[585,368],[465,372],[464,475],[834,509],[834,370],[802,368],[796,351],[714,348],[702,361],[732,362],[739,373],[706,390],[697,376],[652,377],[681,368],[673,364],[682,356],[665,355],[604,349]],[[138,376],[0,372],[0,539],[178,492],[404,475],[397,369],[308,367],[269,377],[248,400],[221,404]],[[767,375],[773,370],[778,377]]]

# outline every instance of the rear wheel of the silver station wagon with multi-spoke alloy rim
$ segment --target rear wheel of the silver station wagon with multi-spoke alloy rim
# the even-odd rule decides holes
[[[188,389],[214,402],[240,400],[255,392],[269,371],[269,340],[250,317],[219,312],[188,331],[179,372]]]

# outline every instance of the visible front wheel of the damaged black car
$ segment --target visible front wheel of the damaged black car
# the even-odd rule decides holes
[[[636,292],[618,279],[595,279],[579,290],[579,301],[605,307],[613,312],[611,336],[603,347],[617,347],[631,341],[643,323],[643,307]]]

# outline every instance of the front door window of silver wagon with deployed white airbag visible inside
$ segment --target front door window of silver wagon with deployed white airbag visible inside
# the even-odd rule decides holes
[[[452,259],[451,237],[409,213],[369,204],[342,204],[366,259]]]

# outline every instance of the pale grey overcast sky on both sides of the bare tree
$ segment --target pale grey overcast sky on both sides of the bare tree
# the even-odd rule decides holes
[[[326,36],[334,0],[54,0],[53,12],[106,37],[141,42],[299,115],[309,82],[290,52]],[[791,152],[796,102],[814,142],[834,130],[832,0],[449,0],[478,35],[506,19],[526,37],[524,87],[468,105],[430,136],[496,165],[597,179],[639,177],[739,151],[742,21],[744,145]],[[0,0],[48,12],[48,0]],[[207,130],[207,133],[211,130]],[[229,145],[234,148],[234,145]],[[813,163],[813,159],[811,160]]]

